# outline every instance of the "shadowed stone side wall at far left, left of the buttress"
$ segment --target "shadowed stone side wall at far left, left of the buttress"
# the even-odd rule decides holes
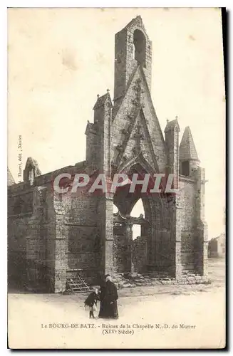
[[[16,184],[9,189],[8,260],[9,283],[27,288],[48,288],[46,187]]]

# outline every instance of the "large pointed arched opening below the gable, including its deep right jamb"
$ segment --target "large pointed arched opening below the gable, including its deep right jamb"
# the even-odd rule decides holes
[[[138,179],[148,173],[150,177],[154,174],[140,163],[127,169],[128,177],[135,173]],[[155,182],[149,184],[153,187]],[[113,197],[116,207],[113,218],[113,268],[118,273],[164,271],[172,266],[167,199],[148,191],[142,193],[142,187],[143,184],[138,184],[135,191],[130,192],[130,184],[126,184],[118,187]]]

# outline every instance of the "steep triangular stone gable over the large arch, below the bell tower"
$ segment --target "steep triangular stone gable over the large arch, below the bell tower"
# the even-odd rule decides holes
[[[137,125],[140,125],[141,134],[144,135],[140,147],[135,137],[138,135],[138,132],[135,132]],[[120,164],[121,166],[122,158],[132,159],[138,155],[140,148],[156,171],[165,172],[165,141],[141,66],[135,70],[115,114],[112,133],[114,165],[119,167]],[[135,144],[137,144],[136,147]]]

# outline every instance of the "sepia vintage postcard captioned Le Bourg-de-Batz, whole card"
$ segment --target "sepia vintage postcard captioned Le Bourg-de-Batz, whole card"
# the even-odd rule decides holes
[[[8,9],[11,349],[225,347],[222,28]]]

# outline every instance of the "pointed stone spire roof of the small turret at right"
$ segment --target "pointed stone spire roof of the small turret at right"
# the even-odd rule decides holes
[[[195,143],[192,138],[192,133],[190,131],[190,127],[185,127],[185,132],[182,136],[182,140],[180,142],[180,159],[197,159],[197,150],[195,147]]]

